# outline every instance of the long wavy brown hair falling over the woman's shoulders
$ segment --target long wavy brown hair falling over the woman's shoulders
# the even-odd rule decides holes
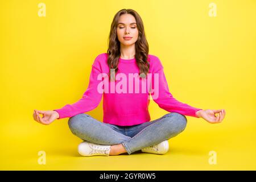
[[[111,76],[110,76],[110,72],[108,73],[110,81],[115,80],[115,74],[118,71],[119,57],[121,55],[120,42],[117,38],[117,24],[118,24],[118,19],[122,14],[133,15],[137,23],[139,34],[138,34],[138,39],[135,42],[135,59],[139,67],[139,76],[146,77],[148,70],[150,68],[150,64],[148,63],[148,43],[147,43],[146,35],[144,33],[144,25],[143,25],[141,16],[139,16],[139,14],[132,9],[122,9],[122,10],[119,10],[114,15],[114,18],[111,24],[109,38],[108,38],[108,51],[107,51],[108,65],[109,65],[109,68],[112,69],[110,70],[110,72],[112,72],[113,69],[115,69],[115,72],[112,72]]]

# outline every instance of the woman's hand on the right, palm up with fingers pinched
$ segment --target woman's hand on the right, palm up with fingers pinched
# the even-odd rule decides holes
[[[215,114],[217,114],[217,117]],[[196,112],[197,117],[203,118],[206,121],[208,121],[209,123],[220,123],[222,122],[222,120],[224,119],[225,115],[226,115],[226,111],[224,109],[220,109],[220,110],[210,110],[210,109],[206,109],[206,110],[199,110]]]

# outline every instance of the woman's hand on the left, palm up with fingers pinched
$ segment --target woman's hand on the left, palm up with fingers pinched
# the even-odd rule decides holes
[[[40,117],[39,114],[43,114],[43,118]],[[33,118],[35,121],[42,123],[43,125],[51,124],[55,119],[59,118],[59,113],[54,110],[34,110]]]

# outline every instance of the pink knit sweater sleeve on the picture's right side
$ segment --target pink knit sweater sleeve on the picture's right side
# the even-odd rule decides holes
[[[155,98],[152,97],[152,99],[158,104],[158,106],[166,111],[169,112],[176,112],[183,115],[188,115],[192,117],[197,117],[196,111],[201,110],[196,107],[189,106],[188,104],[185,104],[183,102],[177,101],[172,94],[169,91],[168,84],[166,77],[164,75],[163,66],[162,64],[159,64],[160,67],[158,71],[155,73],[158,73],[158,82],[159,82],[159,88],[158,93],[155,95]],[[152,76],[152,86],[155,85],[155,76]],[[154,88],[155,89],[155,88]],[[154,91],[154,94],[156,91]],[[154,95],[153,94],[153,95]],[[152,96],[152,94],[151,94]]]

